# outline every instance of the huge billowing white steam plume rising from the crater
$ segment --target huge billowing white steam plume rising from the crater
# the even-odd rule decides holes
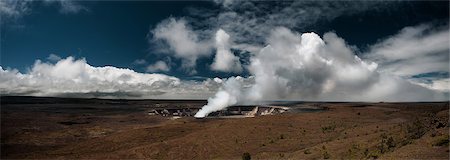
[[[335,33],[323,39],[284,27],[271,31],[267,46],[251,57],[251,87],[229,79],[197,117],[243,102],[263,100],[426,101],[446,96],[390,74],[359,58]]]

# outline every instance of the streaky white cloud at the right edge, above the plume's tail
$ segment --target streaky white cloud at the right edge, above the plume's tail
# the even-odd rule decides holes
[[[442,86],[448,77],[431,79],[431,82],[425,81],[427,77],[423,80],[412,77],[449,72],[449,36],[448,26],[438,29],[430,24],[405,27],[398,34],[371,46],[365,58],[376,61],[381,72],[408,78],[429,89],[446,91]]]

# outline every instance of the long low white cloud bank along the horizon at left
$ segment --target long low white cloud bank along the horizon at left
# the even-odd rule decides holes
[[[212,82],[209,80],[208,83]],[[85,59],[73,57],[56,63],[37,60],[28,73],[0,68],[3,95],[201,98],[210,94],[209,88],[214,87],[203,82],[184,82],[163,74],[137,73],[112,66],[93,67]]]

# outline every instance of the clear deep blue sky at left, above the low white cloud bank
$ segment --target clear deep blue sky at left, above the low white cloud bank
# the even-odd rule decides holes
[[[134,67],[156,59],[149,51],[150,28],[180,16],[186,2],[77,2],[87,10],[60,13],[57,4],[35,2],[29,13],[2,26],[2,66],[25,71],[49,54],[85,57],[92,65]],[[139,69],[139,68],[137,68]]]

